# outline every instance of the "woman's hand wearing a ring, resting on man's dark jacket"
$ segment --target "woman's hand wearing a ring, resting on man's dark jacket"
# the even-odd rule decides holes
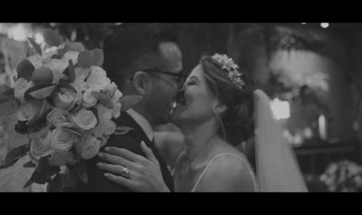
[[[100,159],[110,164],[97,165],[100,169],[110,172],[104,174],[107,179],[126,186],[134,192],[169,192],[155,154],[143,141],[141,148],[147,158],[126,149],[106,147],[107,153],[98,155]],[[119,176],[125,167],[129,169],[129,178]]]

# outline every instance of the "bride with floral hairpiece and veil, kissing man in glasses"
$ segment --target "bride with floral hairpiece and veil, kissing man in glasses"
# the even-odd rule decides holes
[[[226,55],[204,56],[177,97],[171,123],[180,133],[157,133],[176,192],[306,192],[299,166],[272,117],[269,98]],[[254,111],[255,108],[255,111]],[[255,113],[254,113],[255,112]],[[255,129],[256,175],[239,145]],[[163,143],[163,144],[162,144]],[[142,144],[141,144],[142,145]],[[167,192],[157,160],[106,148],[105,176],[133,191]],[[125,163],[129,160],[131,163]],[[123,178],[130,164],[129,178]]]

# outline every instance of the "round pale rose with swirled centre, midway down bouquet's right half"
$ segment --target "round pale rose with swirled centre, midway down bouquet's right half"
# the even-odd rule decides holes
[[[81,109],[78,113],[71,116],[72,122],[83,130],[90,130],[97,125],[97,117],[87,109]]]

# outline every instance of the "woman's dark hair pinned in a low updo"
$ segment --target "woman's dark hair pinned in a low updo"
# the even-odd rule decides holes
[[[228,77],[229,71],[209,55],[204,55],[200,64],[208,88],[226,106],[221,115],[216,114],[220,122],[219,134],[231,145],[240,145],[253,136],[254,132],[252,81],[238,69],[238,74],[242,74],[242,81],[237,83],[242,83],[243,87],[235,86]]]

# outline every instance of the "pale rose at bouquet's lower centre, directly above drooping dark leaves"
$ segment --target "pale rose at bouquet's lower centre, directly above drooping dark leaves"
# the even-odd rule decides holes
[[[52,131],[52,149],[55,152],[67,152],[78,141],[78,137],[70,131],[57,127]]]

